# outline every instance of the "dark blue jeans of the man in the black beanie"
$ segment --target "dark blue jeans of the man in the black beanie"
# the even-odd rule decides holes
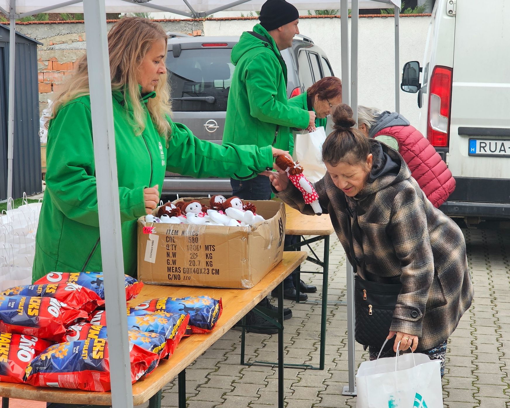
[[[250,180],[234,180],[230,179],[232,186],[232,195],[235,195],[242,200],[269,200],[271,199],[271,182],[269,177],[265,175],[258,175]],[[294,235],[285,236],[285,246],[295,244],[297,237]],[[292,272],[294,274],[294,272]],[[284,289],[294,288],[292,275],[284,279]]]

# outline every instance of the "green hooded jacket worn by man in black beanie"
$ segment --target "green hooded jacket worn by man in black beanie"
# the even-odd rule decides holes
[[[267,41],[244,32],[232,48],[236,68],[228,92],[223,143],[288,150],[289,127],[308,127],[310,114],[287,104],[285,61],[262,25],[255,25],[253,32]]]

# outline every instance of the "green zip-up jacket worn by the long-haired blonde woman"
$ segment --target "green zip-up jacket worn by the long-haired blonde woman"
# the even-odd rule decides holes
[[[170,119],[172,136],[167,147],[145,105],[155,95],[142,97],[145,129],[135,136],[129,99],[120,90],[112,92],[124,271],[133,276],[137,271],[137,218],[145,215],[143,189],[158,184],[161,190],[165,170],[195,177],[249,177],[273,163],[271,146],[220,146],[198,139]],[[86,270],[103,271],[98,239],[90,96],[86,95],[69,101],[49,123],[34,281],[52,271],[81,271],[87,260]]]

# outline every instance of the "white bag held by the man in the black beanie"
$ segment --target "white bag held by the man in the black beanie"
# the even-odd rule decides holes
[[[326,140],[326,132],[322,126],[317,127],[315,132],[304,132],[294,137],[292,158],[303,167],[303,174],[310,183],[317,183],[327,171],[322,163],[322,144]]]

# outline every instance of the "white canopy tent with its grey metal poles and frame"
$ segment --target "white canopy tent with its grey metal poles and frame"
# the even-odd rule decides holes
[[[8,196],[12,195],[12,161],[14,147],[14,69],[15,69],[15,20],[24,16],[46,11],[84,12],[87,48],[97,50],[94,58],[88,60],[92,130],[94,139],[94,160],[97,180],[97,202],[99,232],[103,270],[116,272],[104,274],[107,325],[109,327],[110,380],[113,408],[132,408],[132,385],[127,338],[127,317],[125,314],[125,288],[123,278],[122,242],[120,236],[120,207],[118,196],[117,162],[115,154],[115,133],[110,81],[110,65],[105,14],[107,12],[139,12],[158,10],[180,14],[186,17],[204,17],[223,10],[243,10],[246,6],[260,9],[265,0],[0,0],[0,12],[9,16],[9,99],[8,99]],[[336,1],[290,0],[297,8],[334,8]],[[82,3],[81,6],[79,4]],[[207,9],[210,4],[217,7]],[[351,78],[349,78],[348,13],[351,3]],[[354,118],[358,117],[358,18],[359,8],[381,8],[393,4],[395,8],[395,110],[399,110],[399,60],[398,60],[398,11],[400,0],[340,0],[341,10],[341,56],[343,99],[350,100]],[[45,6],[44,6],[45,4]],[[183,4],[189,11],[185,11]],[[40,7],[40,6],[43,7]],[[172,7],[168,7],[171,5]],[[244,6],[241,6],[244,5]],[[368,7],[370,5],[370,7]],[[350,99],[349,99],[350,96]],[[349,354],[349,385],[344,395],[355,395],[354,386],[354,278],[352,266],[347,263],[347,326]]]

